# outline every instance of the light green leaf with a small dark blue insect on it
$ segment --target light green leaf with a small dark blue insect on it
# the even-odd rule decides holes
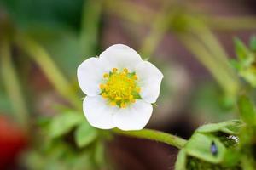
[[[216,145],[217,154],[212,154],[212,142]],[[224,160],[226,148],[221,141],[211,134],[195,133],[189,142],[185,145],[184,150],[189,156],[194,156],[204,161],[211,163],[220,163]]]

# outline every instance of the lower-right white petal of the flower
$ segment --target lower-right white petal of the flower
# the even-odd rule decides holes
[[[127,108],[119,109],[113,116],[113,122],[121,130],[141,130],[149,121],[153,107],[143,100]]]

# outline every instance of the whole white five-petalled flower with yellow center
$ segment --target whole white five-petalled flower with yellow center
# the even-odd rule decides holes
[[[163,74],[143,61],[132,48],[116,44],[99,58],[86,59],[78,68],[79,86],[87,96],[84,115],[90,125],[140,130],[152,114]]]

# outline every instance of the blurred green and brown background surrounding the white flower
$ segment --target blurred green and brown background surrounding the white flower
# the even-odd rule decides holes
[[[0,0],[0,169],[173,169],[177,149],[88,125],[78,65],[136,49],[165,75],[148,128],[189,139],[237,116],[233,38],[253,33],[253,0]]]

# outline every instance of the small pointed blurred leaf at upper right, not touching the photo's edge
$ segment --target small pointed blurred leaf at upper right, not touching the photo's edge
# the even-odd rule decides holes
[[[236,55],[238,59],[245,60],[247,59],[248,55],[250,54],[249,49],[246,47],[246,45],[241,42],[240,39],[237,37],[234,38],[235,42],[235,48],[236,48]]]

